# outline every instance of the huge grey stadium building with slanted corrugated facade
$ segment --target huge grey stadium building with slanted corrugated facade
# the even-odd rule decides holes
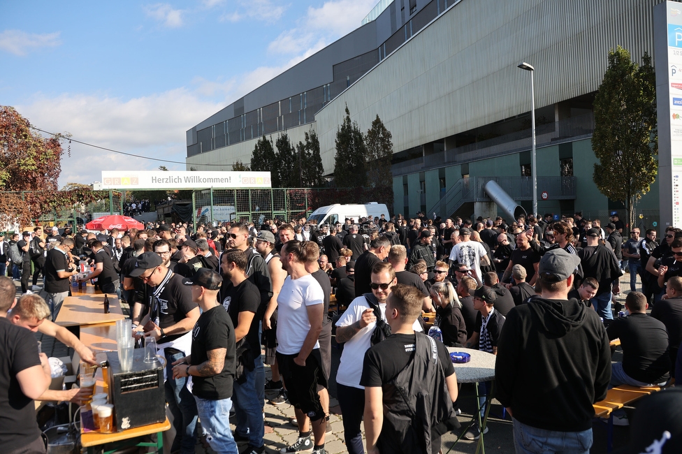
[[[530,212],[534,66],[538,211],[606,220],[622,208],[593,182],[593,100],[609,50],[653,57],[660,0],[379,1],[358,29],[187,131],[187,168],[248,163],[263,135],[313,129],[325,173],[346,105],[393,134],[394,210],[494,214],[496,180]],[[658,180],[637,213],[658,219]],[[491,213],[493,210],[493,213]]]

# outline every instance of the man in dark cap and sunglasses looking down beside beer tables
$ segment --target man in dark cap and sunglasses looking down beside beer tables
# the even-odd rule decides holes
[[[170,451],[194,453],[196,402],[187,389],[187,380],[173,379],[170,369],[191,350],[191,329],[199,318],[199,307],[193,301],[191,289],[182,285],[182,277],[166,268],[154,252],[140,254],[129,276],[139,277],[147,284],[147,300],[136,302],[133,307],[133,330],[143,321],[142,314],[148,312],[150,321],[142,324],[147,327],[145,335],[156,337],[157,346],[164,349],[166,356],[166,402],[175,427]]]

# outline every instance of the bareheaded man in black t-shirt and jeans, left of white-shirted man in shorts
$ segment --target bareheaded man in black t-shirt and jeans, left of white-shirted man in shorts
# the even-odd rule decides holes
[[[224,278],[219,299],[222,307],[230,314],[235,327],[235,342],[240,346],[243,375],[234,383],[235,438],[248,441],[247,452],[263,449],[262,402],[257,390],[256,364],[262,367],[261,339],[258,336],[259,317],[256,312],[261,304],[258,287],[246,275],[247,256],[239,249],[228,249],[220,257],[220,272]],[[242,340],[243,339],[243,340]],[[261,385],[262,386],[262,385]]]

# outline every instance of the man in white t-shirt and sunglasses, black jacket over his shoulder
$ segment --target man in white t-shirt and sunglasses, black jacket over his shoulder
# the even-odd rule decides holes
[[[370,275],[372,302],[379,307],[382,318],[386,318],[386,300],[391,288],[397,284],[396,272],[391,263],[379,262],[372,267]],[[384,288],[385,287],[385,288]],[[367,298],[372,299],[369,293]],[[360,385],[365,351],[372,346],[371,337],[377,326],[374,309],[365,298],[358,296],[349,305],[343,316],[336,322],[336,342],[343,343],[341,364],[336,375],[336,390],[343,416],[343,430],[349,454],[364,453],[360,423],[365,411],[365,387]],[[414,330],[421,331],[419,321]]]

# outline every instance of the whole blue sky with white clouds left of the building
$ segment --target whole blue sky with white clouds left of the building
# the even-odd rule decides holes
[[[60,188],[101,170],[184,170],[187,130],[360,27],[375,3],[0,0],[0,105],[43,131],[175,161],[72,141]]]

